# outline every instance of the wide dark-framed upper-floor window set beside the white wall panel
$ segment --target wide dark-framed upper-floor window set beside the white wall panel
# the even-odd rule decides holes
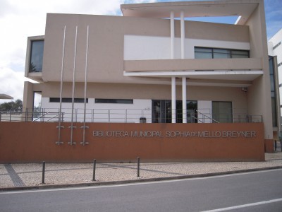
[[[249,54],[247,50],[195,47],[195,59],[249,58]]]

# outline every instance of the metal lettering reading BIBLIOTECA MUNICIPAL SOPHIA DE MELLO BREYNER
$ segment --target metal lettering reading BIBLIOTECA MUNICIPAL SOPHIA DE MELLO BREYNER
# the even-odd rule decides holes
[[[257,131],[122,131],[94,130],[94,137],[136,138],[255,138]]]

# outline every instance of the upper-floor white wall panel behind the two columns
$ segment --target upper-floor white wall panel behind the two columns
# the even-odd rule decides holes
[[[125,60],[171,59],[171,38],[157,36],[124,36]],[[180,59],[180,38],[175,38],[174,58]],[[185,58],[194,59],[194,47],[214,47],[226,49],[250,49],[249,42],[228,42],[220,40],[185,39]]]

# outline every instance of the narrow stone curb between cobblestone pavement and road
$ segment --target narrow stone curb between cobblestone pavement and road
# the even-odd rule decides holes
[[[144,178],[144,179],[127,179],[123,181],[108,181],[108,182],[85,182],[85,183],[74,183],[74,184],[42,184],[38,186],[27,186],[27,187],[0,187],[0,192],[11,192],[11,191],[26,191],[26,190],[40,190],[40,189],[59,189],[59,188],[73,188],[73,187],[98,187],[105,185],[116,185],[116,184],[130,184],[137,182],[155,182],[165,181],[172,179],[190,179],[190,178],[201,178],[201,177],[212,177],[220,175],[231,175],[245,172],[257,172],[262,170],[276,170],[281,169],[282,165],[274,167],[262,167],[248,170],[232,170],[226,172],[214,172],[197,175],[179,175],[172,177],[156,177],[156,178]]]

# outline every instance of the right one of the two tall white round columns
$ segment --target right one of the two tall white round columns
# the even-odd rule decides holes
[[[184,12],[180,12],[180,30],[181,30],[181,59],[185,59],[185,23]],[[187,123],[187,104],[186,104],[186,77],[182,77],[182,122]]]

